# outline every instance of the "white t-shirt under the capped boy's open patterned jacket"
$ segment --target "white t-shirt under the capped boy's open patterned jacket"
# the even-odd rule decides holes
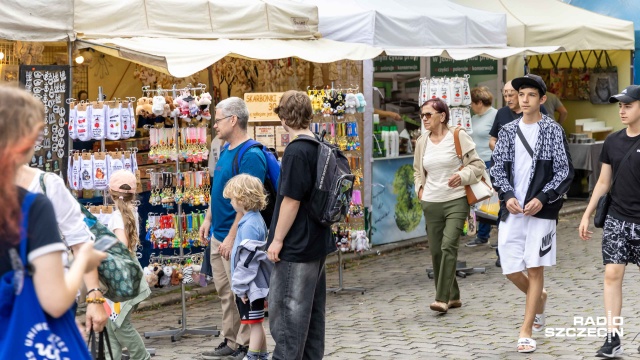
[[[534,124],[525,124],[524,121],[520,121],[518,124],[522,135],[529,143],[531,150],[536,148],[536,142],[538,141],[538,133],[540,132],[540,125],[536,122]],[[513,187],[515,190],[516,199],[520,203],[520,207],[524,208],[524,201],[527,197],[527,191],[529,190],[529,179],[531,178],[532,162],[533,158],[529,155],[529,152],[522,144],[520,137],[516,135],[515,144],[515,157],[513,161]]]

